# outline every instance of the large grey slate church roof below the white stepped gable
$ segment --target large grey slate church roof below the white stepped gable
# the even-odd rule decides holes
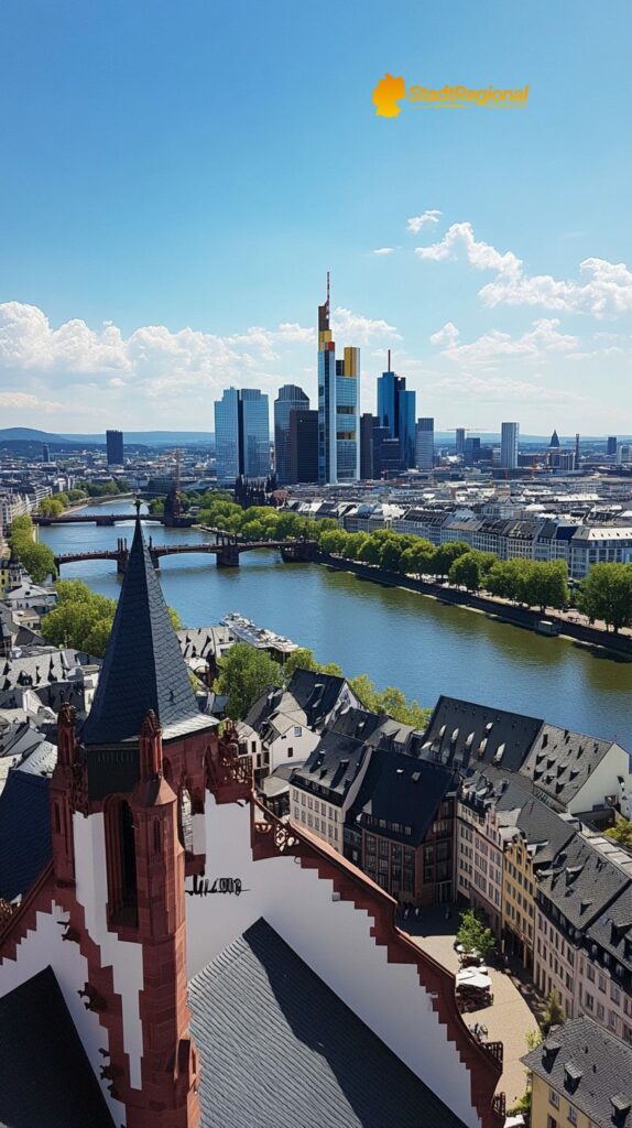
[[[463,1128],[264,919],[189,1005],[202,1128]]]

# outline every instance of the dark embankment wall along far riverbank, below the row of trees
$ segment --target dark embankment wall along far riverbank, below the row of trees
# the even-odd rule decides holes
[[[428,580],[386,572],[373,564],[360,564],[356,561],[342,559],[340,556],[330,556],[327,553],[319,553],[318,562],[338,572],[350,572],[360,580],[371,580],[381,587],[416,591],[418,594],[429,597],[440,603],[482,611],[491,618],[531,631],[535,631],[537,623],[544,618],[540,610],[533,610],[529,607],[519,607],[505,600],[495,599],[492,596],[481,596],[459,588],[446,588]],[[568,638],[590,646],[600,646],[632,660],[632,638],[629,635],[615,634],[612,631],[603,631],[582,623],[572,623],[555,611],[546,611],[545,617],[549,622],[555,623],[560,627],[560,634]]]

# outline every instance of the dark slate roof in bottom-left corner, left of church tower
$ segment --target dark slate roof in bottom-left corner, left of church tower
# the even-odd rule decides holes
[[[0,998],[0,1128],[114,1128],[51,968]]]

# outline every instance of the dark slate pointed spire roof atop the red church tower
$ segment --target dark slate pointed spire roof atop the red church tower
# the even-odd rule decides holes
[[[199,712],[137,518],[81,740],[87,746],[133,740],[149,710],[158,716],[166,739],[216,723]]]

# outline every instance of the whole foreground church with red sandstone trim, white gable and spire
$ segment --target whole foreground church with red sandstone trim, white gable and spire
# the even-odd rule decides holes
[[[51,863],[0,905],[0,1023],[61,992],[100,1102],[73,1116],[77,1082],[37,1128],[376,1128],[376,1109],[380,1128],[500,1128],[502,1047],[474,1040],[453,976],[389,895],[260,807],[216,726],[137,519],[92,710],[79,732],[60,712]]]

